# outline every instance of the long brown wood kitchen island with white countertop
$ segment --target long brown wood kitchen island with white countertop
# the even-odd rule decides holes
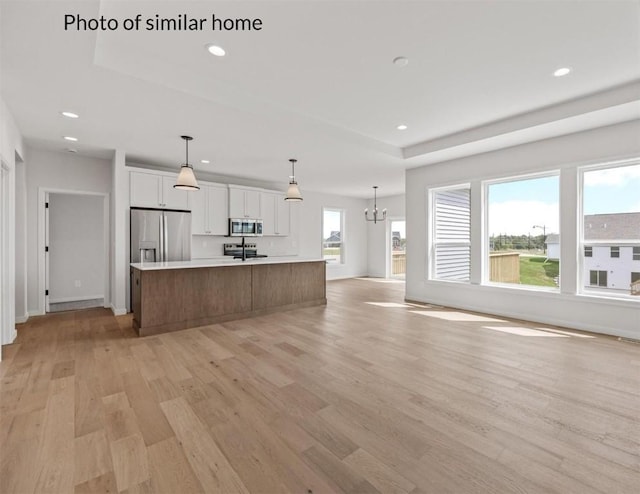
[[[132,263],[139,336],[326,305],[323,259],[270,257]]]

